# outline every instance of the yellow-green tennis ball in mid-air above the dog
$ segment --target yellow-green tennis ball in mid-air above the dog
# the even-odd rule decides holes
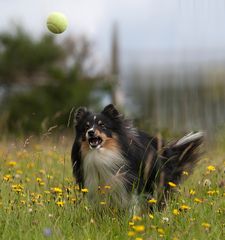
[[[60,12],[52,12],[47,18],[48,30],[52,33],[63,33],[68,26],[68,20],[66,16]]]

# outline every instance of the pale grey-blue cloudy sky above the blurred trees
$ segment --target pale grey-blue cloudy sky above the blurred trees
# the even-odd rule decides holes
[[[57,38],[85,34],[103,58],[115,22],[125,59],[148,59],[154,52],[225,58],[224,0],[0,0],[0,9],[0,31],[17,23],[33,36],[47,31],[49,13],[60,11],[69,27]]]

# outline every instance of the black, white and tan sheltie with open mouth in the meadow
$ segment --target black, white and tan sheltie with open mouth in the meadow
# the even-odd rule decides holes
[[[149,199],[157,193],[159,207],[199,158],[203,133],[190,133],[169,144],[132,126],[110,104],[101,113],[79,108],[72,148],[73,174],[91,202],[99,189],[110,186],[110,201],[129,206],[132,196]],[[170,183],[170,184],[169,184]]]

